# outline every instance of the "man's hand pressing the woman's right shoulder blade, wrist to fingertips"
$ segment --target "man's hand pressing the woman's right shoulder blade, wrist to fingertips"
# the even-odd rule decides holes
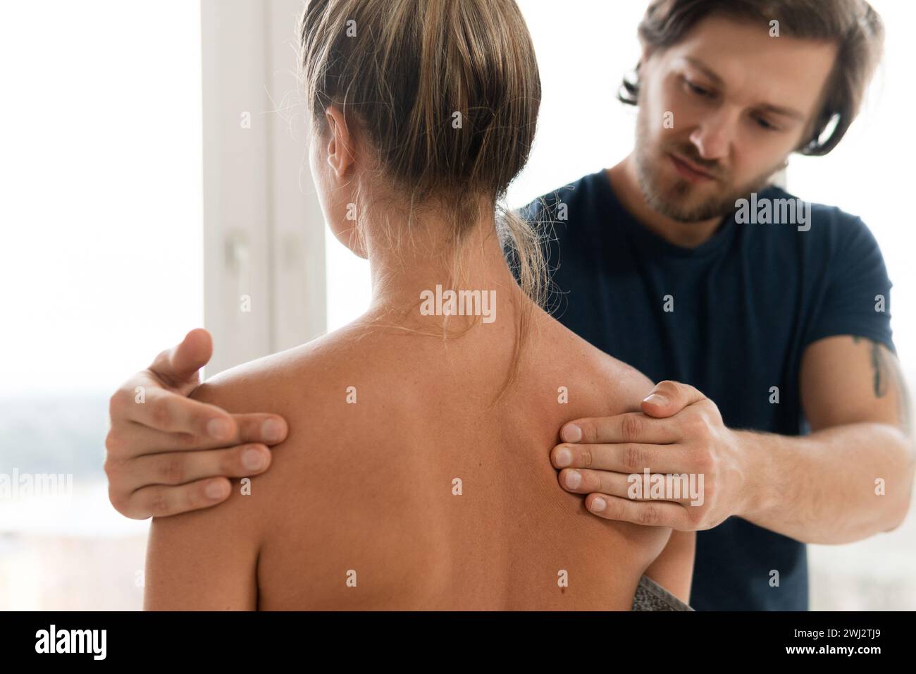
[[[660,381],[634,412],[576,419],[561,429],[563,443],[553,447],[551,462],[560,471],[567,492],[585,493],[585,507],[605,519],[638,525],[697,531],[720,525],[741,512],[747,499],[744,453],[737,436],[722,422],[713,401],[692,386]],[[649,486],[665,474],[686,474],[697,494],[682,490],[680,498],[665,492],[651,498],[631,487]],[[702,481],[699,476],[702,475]],[[664,481],[661,482],[664,484]],[[697,503],[697,504],[692,504]]]

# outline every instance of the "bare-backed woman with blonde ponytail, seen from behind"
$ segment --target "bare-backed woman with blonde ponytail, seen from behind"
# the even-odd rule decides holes
[[[692,536],[594,517],[551,466],[564,421],[652,383],[540,308],[539,240],[496,216],[540,102],[518,7],[312,0],[300,35],[312,176],[373,301],[197,389],[289,437],[221,507],[154,520],[147,609],[627,610],[665,595],[644,573],[686,601]]]

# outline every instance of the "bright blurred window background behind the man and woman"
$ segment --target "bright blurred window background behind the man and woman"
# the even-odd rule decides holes
[[[631,149],[635,111],[615,94],[645,4],[519,0],[544,98],[509,205]],[[860,215],[878,238],[914,391],[916,238],[899,196],[916,154],[905,131],[916,5],[872,4],[888,36],[866,108],[827,158],[791,158],[788,187]],[[148,522],[114,511],[102,470],[108,398],[131,373],[195,326],[213,333],[213,374],[368,304],[367,263],[325,237],[315,204],[295,80],[301,6],[0,6],[0,473],[59,478],[0,494],[0,609],[141,607]],[[916,608],[914,522],[809,547],[812,609]]]

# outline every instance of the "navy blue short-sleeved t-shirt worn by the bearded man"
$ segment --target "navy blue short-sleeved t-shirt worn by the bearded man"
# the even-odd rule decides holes
[[[795,197],[768,187],[758,201],[767,198]],[[808,432],[799,371],[817,339],[857,335],[895,350],[878,244],[862,220],[837,208],[811,204],[807,231],[732,215],[687,249],[640,225],[598,171],[520,213],[540,227],[550,222],[552,314],[652,381],[696,387],[729,428]],[[774,386],[778,403],[770,402]],[[779,587],[770,586],[773,569]],[[698,532],[691,605],[807,610],[805,546],[736,516]]]

